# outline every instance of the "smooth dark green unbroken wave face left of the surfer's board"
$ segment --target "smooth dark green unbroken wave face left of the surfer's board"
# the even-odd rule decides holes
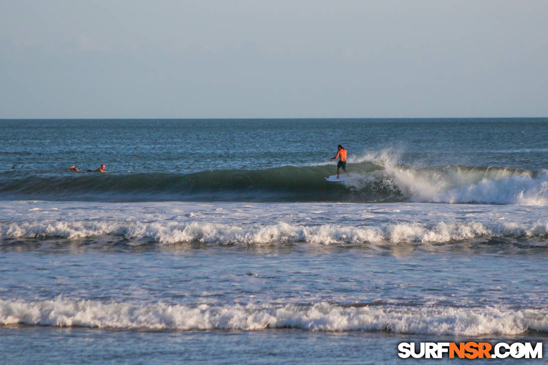
[[[373,163],[353,167],[363,174],[381,169]],[[384,201],[392,194],[373,184],[352,187],[324,180],[332,166],[285,166],[265,170],[214,170],[175,173],[4,173],[0,198],[82,201]],[[8,176],[12,175],[12,176]],[[370,191],[367,191],[370,190]],[[395,192],[396,193],[396,192]],[[396,193],[397,195],[397,193]]]

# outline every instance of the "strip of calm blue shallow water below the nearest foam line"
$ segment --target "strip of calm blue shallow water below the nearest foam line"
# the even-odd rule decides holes
[[[469,338],[447,336],[393,335],[378,332],[323,333],[296,329],[271,329],[264,332],[241,330],[187,331],[50,327],[10,327],[0,330],[0,340],[7,354],[5,361],[18,363],[24,348],[29,362],[62,363],[147,363],[208,362],[279,363],[303,362],[324,364],[394,363],[397,345],[419,341],[466,342]],[[473,340],[478,340],[477,337]],[[538,334],[521,337],[483,337],[481,341],[546,341]],[[145,344],[145,345],[144,345]],[[544,347],[544,352],[546,347]],[[442,360],[408,358],[406,362],[442,363],[469,362],[458,359]],[[501,361],[501,360],[499,360]],[[504,363],[522,363],[521,359],[506,358]],[[492,363],[476,359],[475,363]]]

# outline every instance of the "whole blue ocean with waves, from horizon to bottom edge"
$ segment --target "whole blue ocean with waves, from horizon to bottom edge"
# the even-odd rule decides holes
[[[396,363],[402,342],[548,340],[548,118],[0,130],[2,363]],[[328,183],[339,144],[352,178]]]

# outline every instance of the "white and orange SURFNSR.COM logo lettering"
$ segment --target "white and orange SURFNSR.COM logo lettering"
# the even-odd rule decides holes
[[[505,343],[494,345],[488,342],[402,342],[398,345],[401,358],[543,358],[543,343],[532,345],[530,342]]]

